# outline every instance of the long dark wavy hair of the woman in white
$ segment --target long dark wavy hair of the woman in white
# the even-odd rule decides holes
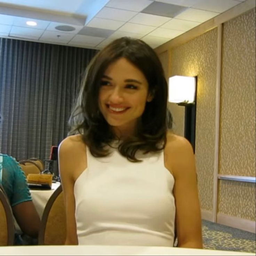
[[[117,137],[99,110],[99,88],[107,67],[120,58],[126,58],[144,74],[149,83],[148,93],[153,95],[153,100],[146,102],[142,117],[137,122],[135,135],[120,141],[118,146],[119,152],[129,161],[138,162],[141,160],[135,157],[137,150],[149,153],[165,147],[166,133],[172,126],[167,109],[167,82],[161,62],[154,50],[142,40],[116,39],[91,60],[69,120],[69,135],[80,133],[94,157],[109,155],[107,145],[112,146]]]

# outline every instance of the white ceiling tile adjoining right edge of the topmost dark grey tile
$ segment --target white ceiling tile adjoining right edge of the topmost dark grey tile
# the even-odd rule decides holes
[[[189,8],[183,13],[177,15],[175,18],[184,19],[186,21],[205,22],[217,15],[218,13],[214,13],[212,11]]]

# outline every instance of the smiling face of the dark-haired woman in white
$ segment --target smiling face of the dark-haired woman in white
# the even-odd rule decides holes
[[[134,134],[146,101],[152,99],[148,89],[144,74],[126,58],[113,62],[104,72],[99,89],[99,109],[114,131],[121,132],[121,136]]]

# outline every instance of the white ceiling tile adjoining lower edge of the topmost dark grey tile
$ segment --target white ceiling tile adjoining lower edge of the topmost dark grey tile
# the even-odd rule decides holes
[[[170,19],[171,18],[169,17],[163,17],[159,15],[139,13],[135,17],[133,17],[129,22],[159,27],[165,22],[169,21]]]

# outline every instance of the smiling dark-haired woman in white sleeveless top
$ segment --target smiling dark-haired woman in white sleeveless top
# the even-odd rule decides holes
[[[154,50],[120,38],[88,66],[59,146],[66,244],[201,248],[193,150],[168,131],[167,82]]]

